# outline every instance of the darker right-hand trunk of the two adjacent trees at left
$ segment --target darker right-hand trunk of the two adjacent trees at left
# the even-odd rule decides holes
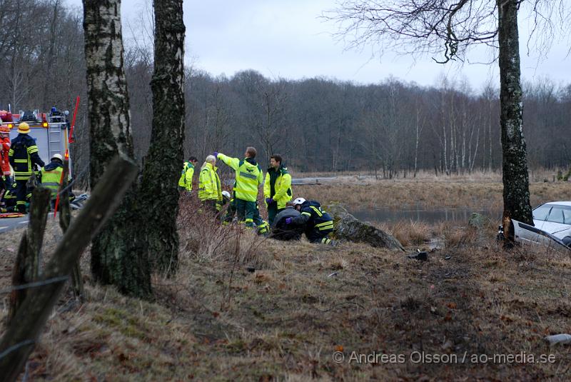
[[[178,177],[184,142],[183,1],[155,0],[155,67],[151,147],[143,169],[138,205],[144,219],[138,225],[141,248],[159,271],[178,267]],[[142,216],[141,216],[142,218]]]

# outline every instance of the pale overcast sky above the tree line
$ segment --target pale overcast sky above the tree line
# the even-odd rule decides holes
[[[81,0],[67,0],[81,6]],[[123,25],[138,23],[144,0],[123,0]],[[150,4],[150,3],[149,3]],[[466,78],[473,88],[492,79],[498,83],[497,64],[436,64],[430,57],[414,61],[410,56],[385,53],[371,58],[371,49],[345,51],[331,36],[335,26],[319,19],[335,7],[335,0],[185,0],[186,61],[213,75],[232,76],[255,69],[271,78],[302,79],[325,76],[361,84],[378,83],[388,76],[422,85],[438,83],[442,74]],[[526,22],[520,19],[522,76],[555,83],[571,82],[567,56],[570,39],[552,44],[547,58],[527,56]],[[129,28],[123,28],[125,38]],[[470,61],[490,61],[490,51],[478,49]]]

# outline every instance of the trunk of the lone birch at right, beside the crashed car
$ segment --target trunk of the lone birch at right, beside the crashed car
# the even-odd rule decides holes
[[[504,221],[533,225],[527,154],[522,130],[522,85],[517,31],[517,0],[497,0],[500,46],[500,126]]]

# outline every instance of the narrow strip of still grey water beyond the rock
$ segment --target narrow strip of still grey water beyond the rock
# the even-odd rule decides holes
[[[472,208],[423,208],[423,209],[393,209],[393,208],[367,208],[351,211],[355,218],[361,221],[387,221],[400,220],[423,221],[425,223],[438,223],[440,221],[468,221],[473,212],[481,213],[492,220],[501,220],[501,212]]]

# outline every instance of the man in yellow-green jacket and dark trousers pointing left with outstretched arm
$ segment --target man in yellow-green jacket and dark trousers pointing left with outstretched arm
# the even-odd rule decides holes
[[[246,226],[253,227],[253,218],[256,214],[256,200],[258,188],[263,182],[263,172],[256,162],[256,149],[248,147],[244,159],[231,158],[224,154],[214,153],[214,157],[223,161],[236,171],[234,181],[234,201],[238,221],[243,221]]]

